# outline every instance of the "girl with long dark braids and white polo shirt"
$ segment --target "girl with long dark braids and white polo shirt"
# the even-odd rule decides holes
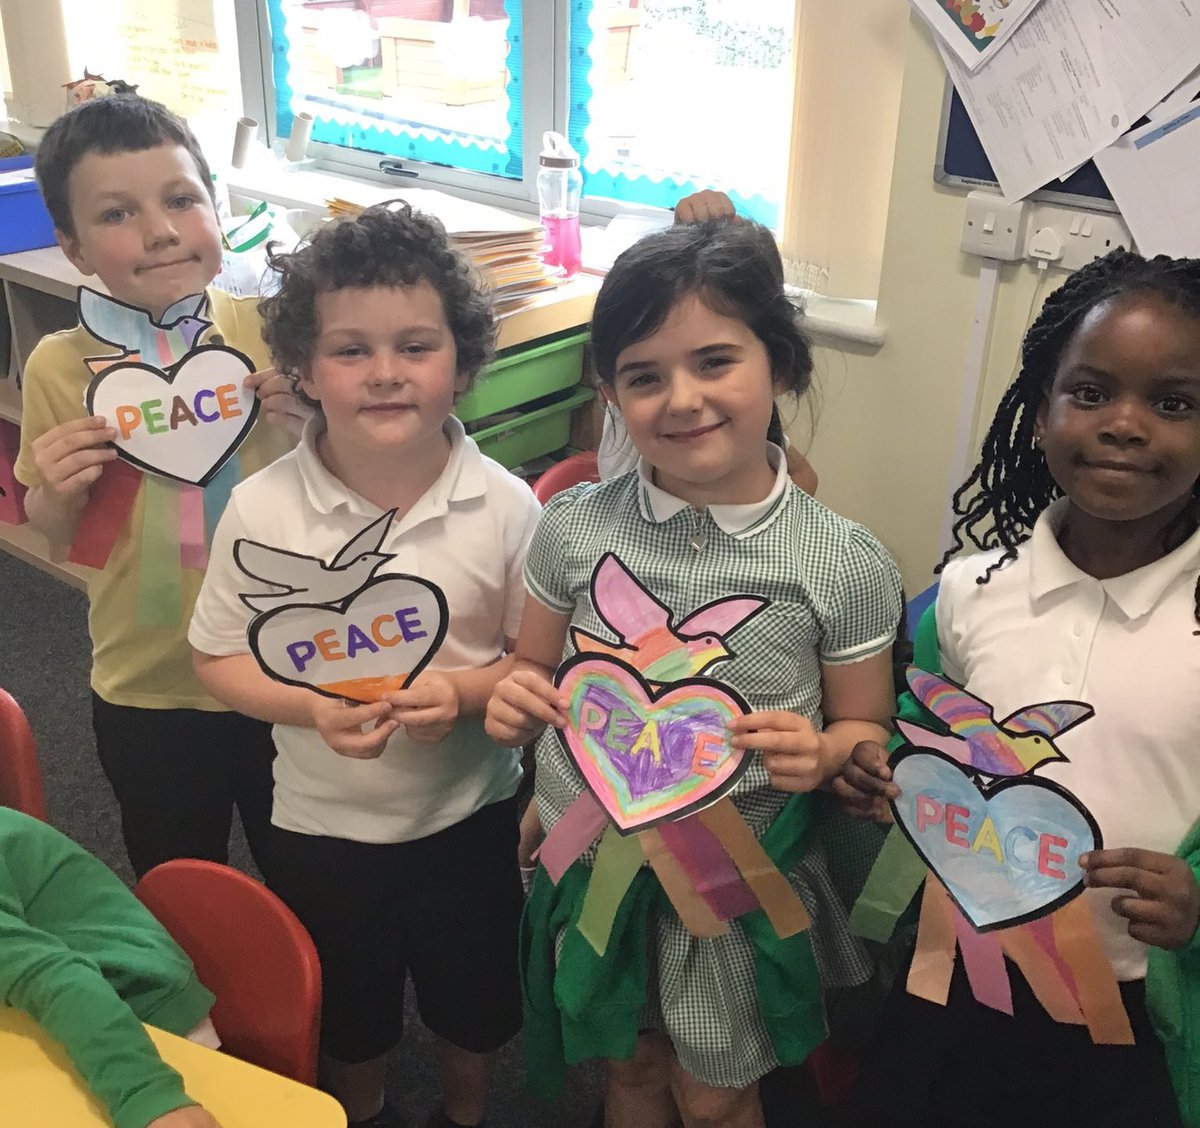
[[[1102,829],[1104,848],[1066,865],[1084,870],[1135,1044],[1054,1021],[1012,962],[1012,1016],[976,1001],[961,961],[944,1007],[901,976],[863,1123],[1200,1124],[1200,260],[1097,259],[1046,300],[1021,358],[954,497],[926,637],[934,672],[996,716],[1094,707],[1038,774]],[[958,557],[968,542],[982,551]],[[887,817],[886,757],[854,749],[835,784],[852,812]]]

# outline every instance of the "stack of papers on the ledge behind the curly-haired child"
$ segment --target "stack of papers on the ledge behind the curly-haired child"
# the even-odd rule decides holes
[[[349,194],[326,200],[331,216],[358,215],[371,204],[403,199],[418,211],[437,216],[455,248],[480,271],[492,289],[497,318],[532,305],[562,281],[562,272],[545,266],[541,223],[499,208],[475,204],[428,188],[389,192],[372,185],[354,186]]]

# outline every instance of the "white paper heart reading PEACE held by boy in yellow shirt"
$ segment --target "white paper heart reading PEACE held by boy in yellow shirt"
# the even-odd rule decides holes
[[[88,410],[116,430],[113,445],[126,462],[203,486],[254,425],[258,397],[244,386],[253,371],[224,344],[202,344],[166,371],[118,361],[92,377]]]

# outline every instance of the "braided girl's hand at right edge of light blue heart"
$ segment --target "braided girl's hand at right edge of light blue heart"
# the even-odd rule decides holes
[[[1092,850],[1079,859],[1093,889],[1132,889],[1112,899],[1129,935],[1156,948],[1184,948],[1200,923],[1200,886],[1182,858],[1153,850]]]

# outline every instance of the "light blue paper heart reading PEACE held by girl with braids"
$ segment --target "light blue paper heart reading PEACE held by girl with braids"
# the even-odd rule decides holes
[[[1064,787],[1012,776],[980,787],[942,752],[904,749],[892,760],[900,829],[977,931],[1054,912],[1084,889],[1079,856],[1100,828]]]

